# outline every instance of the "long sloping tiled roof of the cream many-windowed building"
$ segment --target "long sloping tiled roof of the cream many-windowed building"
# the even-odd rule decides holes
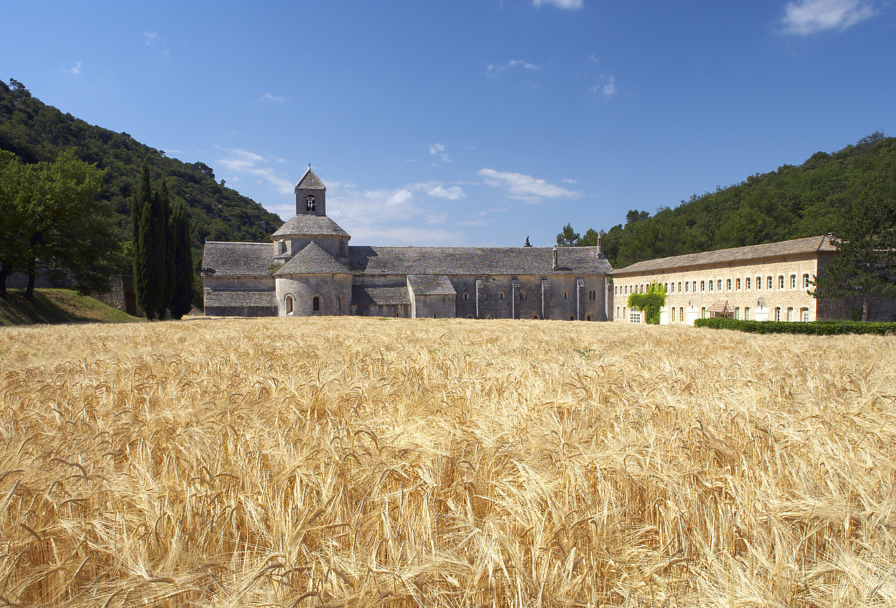
[[[714,252],[687,253],[685,255],[659,258],[657,260],[638,261],[625,268],[614,270],[613,274],[627,276],[628,274],[658,272],[659,270],[675,270],[690,266],[737,263],[741,261],[777,258],[798,253],[835,251],[837,251],[837,248],[831,244],[830,236],[809,236],[807,238],[781,241],[780,243],[754,244],[746,247],[719,249]]]

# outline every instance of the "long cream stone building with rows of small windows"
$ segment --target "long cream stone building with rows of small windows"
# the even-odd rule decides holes
[[[642,322],[627,310],[628,296],[650,283],[666,287],[660,323],[694,324],[702,317],[754,321],[848,319],[860,307],[852,300],[816,300],[811,281],[837,254],[831,237],[811,236],[780,243],[639,261],[613,272],[614,318]],[[896,305],[875,299],[869,321],[896,321]]]

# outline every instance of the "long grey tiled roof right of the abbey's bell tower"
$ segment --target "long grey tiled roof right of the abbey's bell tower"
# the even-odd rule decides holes
[[[597,247],[349,247],[349,268],[366,274],[582,275],[608,273]]]

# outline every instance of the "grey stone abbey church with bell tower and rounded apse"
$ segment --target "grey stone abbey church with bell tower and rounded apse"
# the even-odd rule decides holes
[[[600,245],[354,246],[327,217],[326,187],[310,167],[295,193],[296,215],[271,235],[271,244],[205,244],[206,314],[577,321],[612,316],[612,268]]]

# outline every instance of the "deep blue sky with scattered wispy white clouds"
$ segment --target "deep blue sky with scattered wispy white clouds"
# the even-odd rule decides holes
[[[39,0],[0,77],[352,244],[554,244],[896,130],[892,0]]]

